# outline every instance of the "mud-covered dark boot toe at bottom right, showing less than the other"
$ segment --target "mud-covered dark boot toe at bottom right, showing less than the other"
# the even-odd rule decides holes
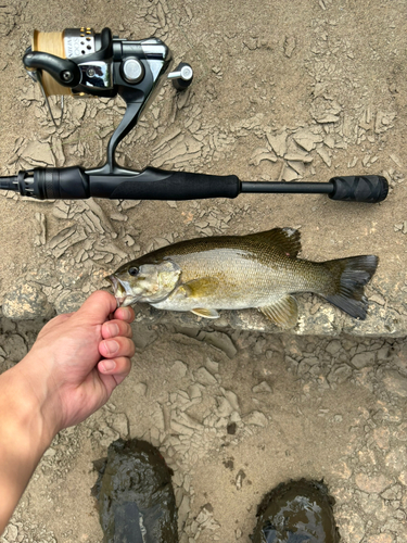
[[[322,482],[290,481],[265,495],[253,543],[338,543],[333,497]]]

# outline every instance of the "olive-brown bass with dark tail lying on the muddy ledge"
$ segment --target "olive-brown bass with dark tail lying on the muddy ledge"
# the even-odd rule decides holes
[[[274,228],[185,240],[128,262],[106,279],[118,307],[147,302],[205,318],[218,318],[218,310],[254,307],[279,327],[292,328],[298,319],[293,294],[311,292],[364,320],[364,287],[379,257],[311,262],[297,257],[300,238],[294,228]]]

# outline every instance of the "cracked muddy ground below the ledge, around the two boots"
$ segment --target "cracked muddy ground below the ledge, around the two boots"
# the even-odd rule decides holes
[[[0,320],[0,371],[40,326]],[[344,543],[407,543],[404,338],[133,332],[129,377],[55,437],[1,543],[100,543],[91,460],[119,438],[152,443],[174,470],[181,543],[249,543],[262,496],[301,478],[323,478]]]

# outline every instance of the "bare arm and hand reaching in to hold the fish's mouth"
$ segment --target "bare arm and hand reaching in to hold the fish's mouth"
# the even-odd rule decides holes
[[[76,313],[50,320],[0,376],[0,535],[54,435],[99,409],[129,374],[133,318],[94,292]]]

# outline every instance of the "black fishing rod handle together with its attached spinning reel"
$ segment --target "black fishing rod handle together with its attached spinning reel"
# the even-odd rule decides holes
[[[389,192],[379,175],[336,176],[328,182],[241,181],[236,175],[217,176],[147,167],[141,172],[119,166],[118,143],[136,127],[153,100],[164,76],[182,91],[193,79],[192,67],[182,62],[169,72],[171,53],[157,38],[120,39],[109,28],[100,34],[90,27],[63,33],[34,31],[23,63],[39,84],[52,121],[48,97],[122,97],[126,112],[107,144],[106,163],[98,168],[80,166],[33,168],[0,177],[0,190],[39,200],[195,200],[236,198],[242,193],[328,194],[332,200],[377,203]],[[61,115],[62,118],[62,115]]]

